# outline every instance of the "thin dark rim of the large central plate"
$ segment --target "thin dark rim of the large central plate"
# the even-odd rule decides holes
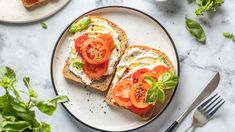
[[[130,9],[132,11],[136,11],[138,13],[141,13],[145,16],[147,16],[148,18],[150,18],[151,20],[153,20],[154,22],[156,22],[158,25],[160,25],[160,27],[164,30],[164,32],[167,34],[168,38],[170,39],[171,41],[171,44],[174,48],[174,51],[175,51],[175,54],[176,54],[176,59],[177,59],[177,66],[178,66],[178,76],[180,76],[180,65],[179,65],[179,56],[178,56],[178,53],[177,53],[177,49],[176,49],[176,46],[175,46],[175,43],[174,41],[172,40],[171,36],[169,35],[169,33],[166,31],[166,29],[155,19],[153,18],[152,16],[148,15],[147,13],[143,12],[143,11],[140,11],[138,9],[135,9],[135,8],[132,8],[132,7],[126,7],[126,6],[105,6],[105,7],[100,7],[100,8],[96,8],[96,9],[93,9],[93,10],[90,10],[82,15],[80,15],[79,17],[77,17],[75,20],[73,20],[65,29],[64,31],[61,33],[60,37],[58,38],[57,42],[56,42],[56,45],[54,46],[54,49],[53,49],[53,53],[52,53],[52,57],[51,57],[51,81],[52,81],[52,85],[53,85],[53,88],[54,88],[54,91],[56,93],[56,95],[59,95],[57,90],[56,90],[56,87],[55,87],[55,82],[54,82],[54,79],[53,79],[53,59],[54,59],[54,55],[55,55],[55,51],[56,51],[56,48],[57,48],[57,45],[60,41],[60,38],[63,36],[63,34],[66,32],[66,30],[69,28],[69,26],[75,22],[77,19],[79,19],[80,17],[86,15],[86,14],[89,14],[91,12],[94,12],[96,10],[100,10],[100,9],[105,9],[105,8],[124,8],[124,9]],[[150,119],[150,121],[148,121],[147,123],[143,124],[142,126],[139,126],[139,127],[136,127],[136,128],[133,128],[133,129],[129,129],[129,130],[125,130],[125,131],[122,131],[122,132],[127,132],[127,131],[134,131],[134,130],[137,130],[137,129],[140,129],[140,128],[143,128],[145,127],[146,125],[152,123],[155,119],[157,119],[164,111],[165,109],[169,106],[169,104],[172,102],[172,99],[174,98],[174,95],[175,95],[175,92],[177,90],[177,87],[178,85],[175,87],[175,90],[173,92],[173,95],[171,96],[170,100],[168,101],[168,103],[166,104],[166,106],[160,111],[160,113],[153,117],[152,119]],[[107,131],[107,130],[102,130],[102,129],[99,129],[99,128],[96,128],[94,126],[91,126],[89,124],[86,124],[85,122],[82,122],[81,120],[79,120],[75,115],[73,115],[68,109],[67,107],[62,103],[61,104],[64,109],[69,113],[70,116],[72,116],[75,120],[77,120],[78,122],[82,123],[83,125],[89,127],[89,128],[92,128],[94,130],[97,130],[97,131],[105,131],[105,132],[111,132],[111,131]]]

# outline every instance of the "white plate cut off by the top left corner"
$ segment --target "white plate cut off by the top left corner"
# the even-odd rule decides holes
[[[62,9],[70,0],[53,0],[34,10],[27,10],[21,0],[0,0],[0,21],[28,23],[49,17]]]

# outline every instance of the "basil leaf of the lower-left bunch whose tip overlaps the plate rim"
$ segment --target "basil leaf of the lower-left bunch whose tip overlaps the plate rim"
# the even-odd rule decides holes
[[[69,101],[67,96],[57,96],[48,101],[41,101],[34,98],[32,98],[31,100],[42,113],[50,116],[53,115],[58,103],[65,103]]]

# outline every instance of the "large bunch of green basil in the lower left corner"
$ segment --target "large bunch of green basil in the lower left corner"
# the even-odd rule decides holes
[[[57,96],[49,100],[42,100],[30,86],[30,78],[23,79],[26,91],[16,89],[17,78],[9,67],[0,67],[0,87],[5,94],[0,96],[0,131],[3,132],[50,132],[51,127],[36,119],[35,108],[44,114],[52,115],[59,102],[68,102],[67,96]],[[20,92],[28,96],[24,101]]]

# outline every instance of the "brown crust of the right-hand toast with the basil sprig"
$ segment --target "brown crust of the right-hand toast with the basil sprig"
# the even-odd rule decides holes
[[[164,58],[165,64],[169,67],[170,71],[174,73],[174,66],[173,66],[172,62],[171,62],[170,59],[167,57],[167,55],[166,55],[165,53],[161,52],[160,50],[157,50],[157,49],[154,49],[154,48],[151,48],[151,47],[147,47],[147,46],[143,46],[143,45],[131,45],[131,46],[129,46],[129,47],[125,50],[125,52],[127,52],[128,50],[130,50],[130,49],[132,49],[132,48],[139,48],[139,49],[147,50],[147,51],[150,51],[150,50],[151,50],[152,52],[158,54],[159,56],[162,56],[162,57]],[[113,92],[113,86],[110,86],[110,89],[109,89],[109,91],[108,91],[108,93],[107,93],[107,96],[106,96],[106,98],[105,98],[105,101],[107,102],[107,104],[109,104],[110,106],[121,107],[122,109],[126,109],[125,107],[122,107],[122,106],[118,105],[117,103],[112,102],[112,99],[113,99],[113,97],[112,97],[112,92]],[[169,96],[170,96],[173,92],[174,92],[174,89],[170,89],[170,90],[166,91],[166,100],[165,100],[164,104],[165,104],[165,103],[168,103],[168,101],[169,101],[168,98],[169,98]],[[159,105],[159,106],[158,106],[158,105]],[[140,118],[143,119],[143,120],[149,120],[149,119],[152,117],[152,115],[153,115],[153,113],[154,113],[154,110],[155,110],[155,109],[160,109],[162,106],[164,106],[164,105],[163,105],[163,104],[160,104],[160,103],[159,103],[159,104],[155,104],[154,108],[153,108],[151,111],[149,111],[148,113],[144,114],[144,115],[138,115],[138,114],[136,114],[136,113],[131,112],[131,111],[128,110],[128,109],[126,109],[126,110],[128,110],[128,111],[131,112],[131,113],[133,113],[133,114],[136,115],[137,117],[140,117]]]

